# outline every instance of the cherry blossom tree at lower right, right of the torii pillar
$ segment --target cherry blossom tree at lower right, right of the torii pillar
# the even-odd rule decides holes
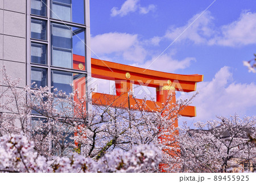
[[[238,115],[196,122],[197,129],[180,130],[182,172],[241,171],[243,164],[256,163],[256,118]]]

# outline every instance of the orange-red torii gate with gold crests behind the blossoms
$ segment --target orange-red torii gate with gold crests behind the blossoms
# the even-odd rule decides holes
[[[84,66],[85,58],[73,54],[73,68],[83,69]],[[129,91],[133,90],[133,84],[138,84],[141,86],[156,88],[156,101],[147,100],[146,106],[144,106],[144,110],[147,110],[148,112],[159,111],[159,108],[157,108],[156,105],[160,108],[163,107],[167,103],[167,98],[170,95],[172,95],[172,99],[168,102],[170,104],[176,103],[175,91],[196,91],[196,83],[203,81],[203,75],[199,74],[181,75],[164,73],[160,71],[123,65],[120,63],[102,61],[95,58],[91,59],[91,69],[93,78],[115,81],[116,95],[93,92],[92,100],[94,103],[97,104],[97,101],[100,101],[101,103],[98,103],[98,105],[111,104],[113,107],[119,107],[120,104],[122,104],[123,108],[138,110],[139,108],[136,104],[142,104],[142,99],[129,100],[129,103],[127,103]],[[112,101],[105,99],[112,99]],[[179,112],[179,114],[185,117],[195,117],[196,107],[186,106]],[[177,120],[175,120],[174,126],[178,126]],[[163,168],[165,165],[162,164],[160,167]],[[162,171],[164,172],[163,169]]]

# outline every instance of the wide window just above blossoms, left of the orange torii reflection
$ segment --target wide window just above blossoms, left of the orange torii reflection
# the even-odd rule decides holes
[[[67,94],[72,93],[72,80],[72,73],[67,73],[63,71],[52,71],[53,90],[54,88],[57,88],[58,91],[63,91]]]

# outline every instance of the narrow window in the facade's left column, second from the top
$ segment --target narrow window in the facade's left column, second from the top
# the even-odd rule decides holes
[[[46,21],[31,19],[31,38],[46,40]]]

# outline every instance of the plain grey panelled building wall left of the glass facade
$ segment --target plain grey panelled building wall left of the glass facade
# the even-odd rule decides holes
[[[0,69],[5,65],[11,78],[26,86],[27,0],[0,0]],[[2,80],[2,75],[0,76]],[[0,83],[0,92],[5,86]],[[0,103],[3,103],[2,97]],[[1,110],[1,109],[0,109]]]

